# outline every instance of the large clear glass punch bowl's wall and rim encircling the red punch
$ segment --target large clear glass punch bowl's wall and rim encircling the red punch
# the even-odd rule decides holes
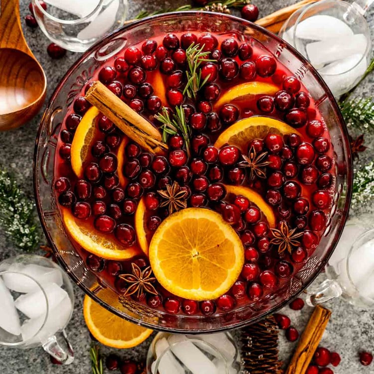
[[[160,33],[173,31],[235,32],[242,40],[256,38],[297,76],[314,98],[330,131],[336,159],[336,191],[328,227],[301,270],[265,300],[213,316],[169,315],[146,305],[120,303],[118,295],[104,289],[74,250],[62,224],[53,191],[54,156],[61,122],[73,100],[96,69],[113,55]],[[73,281],[102,306],[134,323],[167,332],[216,332],[254,323],[274,313],[302,292],[324,268],[343,230],[351,199],[352,157],[347,128],[338,105],[317,71],[282,39],[253,23],[229,15],[181,12],[157,15],[129,24],[95,44],[70,68],[54,91],[37,134],[34,155],[34,188],[44,232],[55,255]]]

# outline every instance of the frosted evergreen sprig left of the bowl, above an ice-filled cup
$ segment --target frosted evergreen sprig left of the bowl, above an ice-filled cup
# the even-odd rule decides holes
[[[18,187],[15,179],[0,168],[0,226],[19,248],[31,251],[39,242],[35,203]]]

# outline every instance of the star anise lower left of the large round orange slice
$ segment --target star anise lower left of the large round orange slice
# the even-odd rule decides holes
[[[137,264],[132,263],[132,274],[121,274],[119,277],[130,284],[123,296],[130,296],[136,293],[139,298],[145,292],[157,295],[155,287],[152,282],[156,280],[152,275],[152,268],[148,266],[143,271]]]

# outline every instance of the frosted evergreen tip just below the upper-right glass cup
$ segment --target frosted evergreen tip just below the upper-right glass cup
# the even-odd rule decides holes
[[[348,127],[374,129],[374,97],[344,101],[340,109]]]

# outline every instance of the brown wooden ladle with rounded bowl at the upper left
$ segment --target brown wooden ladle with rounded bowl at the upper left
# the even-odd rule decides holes
[[[47,79],[24,39],[18,0],[0,3],[0,130],[9,130],[39,112]]]

